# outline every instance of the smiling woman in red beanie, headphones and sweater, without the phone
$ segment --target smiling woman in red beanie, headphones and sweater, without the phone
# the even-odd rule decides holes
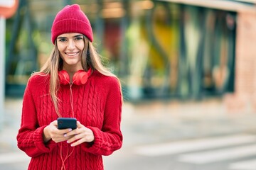
[[[102,66],[80,6],[59,11],[51,33],[53,52],[24,92],[18,147],[28,169],[103,169],[102,155],[122,147],[119,80]],[[58,129],[61,117],[77,128]]]

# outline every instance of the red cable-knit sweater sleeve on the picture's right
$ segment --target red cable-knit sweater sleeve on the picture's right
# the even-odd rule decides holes
[[[87,127],[95,135],[93,145],[85,143],[82,149],[85,152],[100,155],[110,155],[122,147],[122,132],[120,130],[122,113],[122,92],[117,78],[112,77],[105,86],[107,98],[105,103],[104,122],[102,129]]]

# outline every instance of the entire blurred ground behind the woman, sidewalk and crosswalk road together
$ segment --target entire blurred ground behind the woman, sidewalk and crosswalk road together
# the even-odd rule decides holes
[[[16,147],[21,100],[6,101],[0,169],[25,170]],[[255,113],[227,113],[220,101],[124,103],[122,149],[103,157],[105,170],[256,170]]]

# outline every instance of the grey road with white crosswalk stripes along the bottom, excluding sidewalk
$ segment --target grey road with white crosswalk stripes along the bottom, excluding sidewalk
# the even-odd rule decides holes
[[[237,134],[124,147],[104,157],[105,169],[255,170],[256,134]],[[0,154],[0,169],[26,169],[23,152]]]

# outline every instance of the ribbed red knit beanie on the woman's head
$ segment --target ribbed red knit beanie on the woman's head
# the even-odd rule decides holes
[[[93,40],[92,27],[85,13],[78,4],[65,6],[57,13],[51,29],[51,40],[55,44],[55,39],[63,33],[81,33],[91,42]]]

